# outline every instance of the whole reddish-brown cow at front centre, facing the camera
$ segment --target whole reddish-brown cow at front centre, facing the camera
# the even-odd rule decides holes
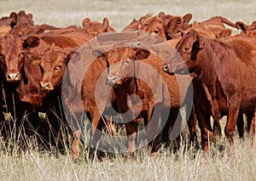
[[[102,54],[102,59],[105,59],[109,66],[106,83],[113,87],[118,112],[119,114],[125,113],[122,116],[125,120],[125,128],[128,136],[128,154],[131,155],[134,152],[137,122],[143,118],[146,123],[145,126],[147,126],[146,133],[148,140],[151,141],[152,146],[150,156],[155,156],[157,152],[156,137],[159,131],[158,124],[164,126],[164,121],[167,120],[163,133],[165,134],[164,138],[168,141],[169,128],[174,127],[175,121],[177,125],[181,123],[179,108],[183,102],[181,100],[185,98],[186,93],[180,93],[175,77],[168,76],[167,78],[162,74],[168,86],[166,87],[160,81],[160,75],[152,76],[152,71],[139,69],[138,61],[152,66],[157,73],[159,72],[161,74],[160,70],[163,60],[155,54],[151,54],[148,50],[127,47],[113,48],[109,52]],[[142,75],[144,80],[150,79],[151,84],[149,83],[148,85],[148,82],[143,82],[144,80],[136,78],[134,75],[137,75],[137,77]],[[186,84],[185,82],[190,81],[190,79],[183,79],[183,81],[182,84],[187,86],[183,85],[183,90],[188,90],[189,83],[187,82]],[[157,98],[154,97],[154,93],[157,94]],[[133,94],[136,94],[139,99],[137,96],[132,97],[131,95]],[[160,116],[163,123],[159,120]],[[177,129],[175,131],[179,132],[180,125],[174,129]],[[172,131],[175,132],[173,129]]]

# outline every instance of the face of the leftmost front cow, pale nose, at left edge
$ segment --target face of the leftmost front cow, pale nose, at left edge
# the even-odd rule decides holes
[[[0,65],[7,82],[19,82],[24,62],[23,41],[8,35],[0,42]]]

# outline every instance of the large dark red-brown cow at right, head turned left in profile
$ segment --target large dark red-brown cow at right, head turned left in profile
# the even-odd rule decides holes
[[[170,74],[194,76],[195,112],[201,128],[202,148],[206,153],[209,153],[209,141],[213,136],[210,116],[215,122],[228,116],[224,133],[233,145],[237,116],[254,111],[255,46],[255,41],[244,36],[218,41],[192,30],[177,43],[179,54],[163,67]]]

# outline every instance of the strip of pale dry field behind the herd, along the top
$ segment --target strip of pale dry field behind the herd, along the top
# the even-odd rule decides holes
[[[81,25],[84,18],[102,21],[108,17],[110,25],[120,30],[133,18],[144,14],[193,14],[192,20],[207,20],[222,15],[231,21],[243,20],[251,23],[256,17],[256,2],[253,0],[0,0],[0,15],[9,15],[11,11],[26,10],[34,15],[36,24],[47,23],[64,27]]]

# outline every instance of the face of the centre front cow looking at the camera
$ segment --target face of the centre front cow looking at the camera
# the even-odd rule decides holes
[[[108,85],[119,86],[127,79],[136,77],[136,64],[138,59],[146,59],[150,53],[137,48],[115,48],[108,52]]]

